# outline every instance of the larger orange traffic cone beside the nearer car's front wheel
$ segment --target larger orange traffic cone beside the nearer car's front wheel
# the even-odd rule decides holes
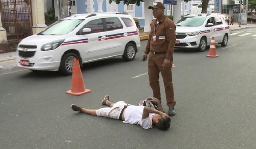
[[[67,91],[66,93],[70,95],[80,96],[89,92],[91,92],[91,90],[86,89],[84,86],[84,79],[81,73],[79,60],[75,58],[73,64],[71,90]]]

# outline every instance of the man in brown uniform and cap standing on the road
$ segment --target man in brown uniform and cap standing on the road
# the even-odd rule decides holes
[[[168,114],[173,116],[176,114],[174,110],[176,102],[174,100],[172,84],[172,60],[176,40],[176,26],[172,20],[164,15],[165,8],[163,3],[154,3],[148,9],[152,9],[153,16],[156,19],[150,23],[151,31],[143,54],[143,61],[147,60],[147,55],[149,54],[149,84],[153,90],[153,96],[160,101],[159,73],[161,72],[166,92],[167,106],[169,106]]]

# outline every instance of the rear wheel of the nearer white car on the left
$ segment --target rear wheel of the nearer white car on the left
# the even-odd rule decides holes
[[[123,59],[125,61],[131,61],[134,60],[136,56],[136,46],[132,43],[128,43],[125,46],[124,54],[122,55]]]

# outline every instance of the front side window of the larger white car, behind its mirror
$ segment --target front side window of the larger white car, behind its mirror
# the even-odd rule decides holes
[[[104,31],[102,19],[91,20],[90,22],[86,23],[83,28],[90,28],[92,30],[91,33]]]

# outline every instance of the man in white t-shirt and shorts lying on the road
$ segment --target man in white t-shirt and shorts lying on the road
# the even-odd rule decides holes
[[[171,119],[163,112],[161,103],[157,98],[151,97],[150,101],[155,103],[159,109],[153,109],[148,106],[134,106],[119,101],[111,103],[109,96],[105,96],[102,100],[102,105],[107,105],[107,108],[101,109],[85,109],[76,105],[71,105],[74,111],[84,112],[90,115],[110,117],[113,119],[122,120],[123,123],[137,124],[144,129],[150,129],[155,126],[161,130],[167,130],[170,127]],[[162,112],[161,112],[162,111]]]

